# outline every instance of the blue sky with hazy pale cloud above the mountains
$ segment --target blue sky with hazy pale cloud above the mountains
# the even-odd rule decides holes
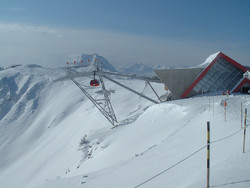
[[[0,66],[63,66],[81,53],[197,65],[217,51],[250,65],[249,33],[249,0],[1,0]]]

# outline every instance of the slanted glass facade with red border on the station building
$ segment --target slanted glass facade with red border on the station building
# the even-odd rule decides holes
[[[222,52],[207,65],[190,87],[181,95],[191,95],[220,90],[232,90],[248,69]]]

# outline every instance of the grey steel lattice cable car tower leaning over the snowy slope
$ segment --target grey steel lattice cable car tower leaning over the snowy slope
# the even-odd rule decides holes
[[[90,60],[88,60],[88,62],[90,62]],[[90,67],[92,66],[92,67]],[[88,71],[84,71],[84,72],[79,72],[77,70],[80,70],[81,68],[84,67],[90,67],[90,70]],[[124,84],[112,79],[110,76],[114,75],[114,76],[123,76],[123,77],[130,77],[130,78],[134,78],[134,79],[140,79],[140,80],[144,80],[146,81],[146,83],[151,87],[151,89],[153,90],[153,92],[155,93],[155,95],[158,97],[159,101],[161,101],[160,97],[158,96],[158,94],[156,93],[156,91],[154,90],[154,88],[152,87],[152,85],[150,84],[150,82],[157,82],[157,83],[162,83],[159,79],[152,79],[152,78],[148,78],[145,76],[138,76],[138,75],[128,75],[128,74],[122,74],[122,73],[117,73],[117,72],[105,72],[102,70],[102,62],[100,60],[95,59],[94,61],[92,61],[92,64],[83,64],[83,61],[81,60],[81,65],[76,65],[76,61],[74,61],[74,65],[70,65],[67,62],[67,68],[66,68],[66,74],[67,77],[70,78],[79,88],[80,90],[85,94],[86,97],[88,97],[88,99],[95,105],[95,107],[106,117],[106,119],[113,125],[115,126],[118,121],[117,118],[115,116],[115,112],[113,110],[113,107],[111,105],[110,102],[110,95],[112,93],[112,91],[109,91],[106,89],[105,84],[104,84],[104,80],[103,78],[157,104],[159,103],[158,101],[142,94],[139,93],[135,90],[133,90],[132,88],[125,86]],[[98,98],[93,98],[91,96],[91,94],[89,92],[87,92],[87,88],[89,88],[89,86],[86,88],[85,85],[83,85],[82,83],[80,83],[79,81],[76,80],[76,78],[78,77],[91,77],[94,76],[94,78],[92,80],[90,80],[90,87],[93,88],[100,88],[101,90],[96,92],[98,93]]]

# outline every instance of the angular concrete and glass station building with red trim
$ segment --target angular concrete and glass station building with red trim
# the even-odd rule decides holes
[[[209,92],[244,92],[250,90],[250,72],[222,52],[215,53],[197,66],[154,70],[171,91],[172,99]]]

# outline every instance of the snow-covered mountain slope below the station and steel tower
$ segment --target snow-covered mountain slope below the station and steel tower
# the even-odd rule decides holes
[[[64,76],[35,65],[0,71],[1,187],[206,187],[207,121],[210,186],[250,187],[250,136],[247,128],[243,153],[241,128],[248,95],[152,104],[105,81],[119,120],[114,128]],[[98,95],[89,78],[78,79]],[[154,97],[143,81],[118,80]]]

